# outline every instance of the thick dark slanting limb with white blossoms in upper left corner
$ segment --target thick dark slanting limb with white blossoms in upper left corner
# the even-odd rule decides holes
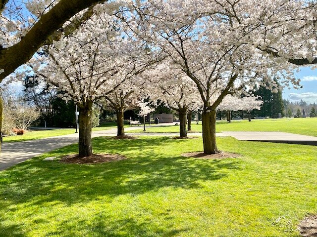
[[[0,0],[0,82],[45,44],[72,34],[97,9],[114,10],[107,0]],[[100,3],[103,3],[100,7]],[[94,10],[95,9],[95,10]]]

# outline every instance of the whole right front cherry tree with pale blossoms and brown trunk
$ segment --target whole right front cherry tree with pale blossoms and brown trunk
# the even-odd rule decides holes
[[[261,44],[261,50],[255,42],[258,38],[265,39],[267,29],[290,31],[290,25],[284,28],[282,24],[287,22],[283,17],[287,19],[290,12],[293,17],[300,12],[303,16],[305,12],[308,19],[313,19],[311,8],[305,9],[305,4],[297,0],[267,0],[265,3],[255,0],[149,0],[143,3],[143,8],[134,7],[134,19],[148,30],[142,37],[166,52],[173,67],[196,83],[204,103],[205,153],[218,152],[215,112],[226,95],[239,94],[246,86],[252,89],[259,83],[272,88],[276,86],[273,80],[276,75],[282,85],[299,86],[299,80],[293,77],[290,58],[274,56],[265,51],[269,44]],[[266,16],[267,12],[270,17]],[[270,26],[272,22],[274,28]],[[282,39],[277,36],[273,41]],[[297,37],[291,41],[302,42]]]

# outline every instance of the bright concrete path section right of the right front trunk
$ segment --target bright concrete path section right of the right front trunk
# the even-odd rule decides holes
[[[317,137],[287,132],[222,132],[241,141],[261,141],[317,146]]]

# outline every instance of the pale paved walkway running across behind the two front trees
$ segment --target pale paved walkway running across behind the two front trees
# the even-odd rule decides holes
[[[159,124],[155,126],[166,126],[173,124]],[[154,125],[152,125],[154,126]],[[179,133],[129,133],[131,130],[137,130],[142,126],[134,126],[125,128],[126,135],[130,136],[179,136]],[[107,129],[94,131],[92,137],[100,136],[116,136],[117,129]],[[202,136],[202,133],[188,133],[189,136]],[[298,135],[286,132],[222,132],[216,133],[217,137],[232,136],[238,140],[245,141],[262,141],[262,142],[279,142],[304,145],[317,145],[317,137]],[[2,144],[2,152],[0,154],[0,170],[4,170],[12,165],[23,162],[29,158],[40,156],[44,153],[55,149],[71,145],[78,142],[78,133],[49,137],[40,140],[32,140],[25,142],[13,142]]]

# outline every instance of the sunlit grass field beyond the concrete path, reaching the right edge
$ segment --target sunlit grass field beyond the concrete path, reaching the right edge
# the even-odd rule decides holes
[[[192,131],[201,132],[202,124],[192,122]],[[317,136],[317,118],[267,118],[231,120],[230,123],[224,120],[216,122],[216,131],[280,131],[302,135]],[[143,132],[143,129],[130,132]],[[147,128],[146,132],[179,132],[179,126],[158,126]]]

